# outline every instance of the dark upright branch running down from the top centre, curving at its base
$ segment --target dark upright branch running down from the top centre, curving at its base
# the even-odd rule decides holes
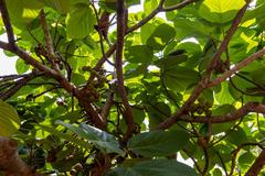
[[[121,97],[123,105],[125,106],[125,121],[127,123],[127,132],[125,139],[129,138],[135,131],[135,122],[131,107],[128,102],[127,94],[124,85],[124,70],[123,70],[123,52],[124,52],[124,36],[125,36],[125,0],[117,0],[117,45],[115,68],[117,74],[117,86]]]

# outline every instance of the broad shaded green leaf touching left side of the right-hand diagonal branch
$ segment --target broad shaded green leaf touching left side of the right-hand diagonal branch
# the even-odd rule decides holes
[[[174,68],[166,69],[162,73],[165,85],[173,90],[183,91],[189,86],[198,82],[200,79],[199,73],[186,67],[176,66]]]

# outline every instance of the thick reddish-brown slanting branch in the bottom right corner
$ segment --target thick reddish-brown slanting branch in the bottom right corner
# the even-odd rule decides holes
[[[258,155],[258,157],[255,160],[255,162],[246,172],[245,176],[257,176],[264,165],[265,165],[265,150],[262,151],[262,153]]]

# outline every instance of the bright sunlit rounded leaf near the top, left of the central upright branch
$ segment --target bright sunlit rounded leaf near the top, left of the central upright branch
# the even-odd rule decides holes
[[[66,32],[71,38],[83,38],[93,32],[96,23],[92,8],[86,4],[76,4],[66,20]]]

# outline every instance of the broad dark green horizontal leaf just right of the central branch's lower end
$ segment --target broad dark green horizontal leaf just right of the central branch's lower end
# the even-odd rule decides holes
[[[128,148],[142,156],[165,156],[173,154],[189,142],[184,131],[151,131],[137,134],[128,142]]]

